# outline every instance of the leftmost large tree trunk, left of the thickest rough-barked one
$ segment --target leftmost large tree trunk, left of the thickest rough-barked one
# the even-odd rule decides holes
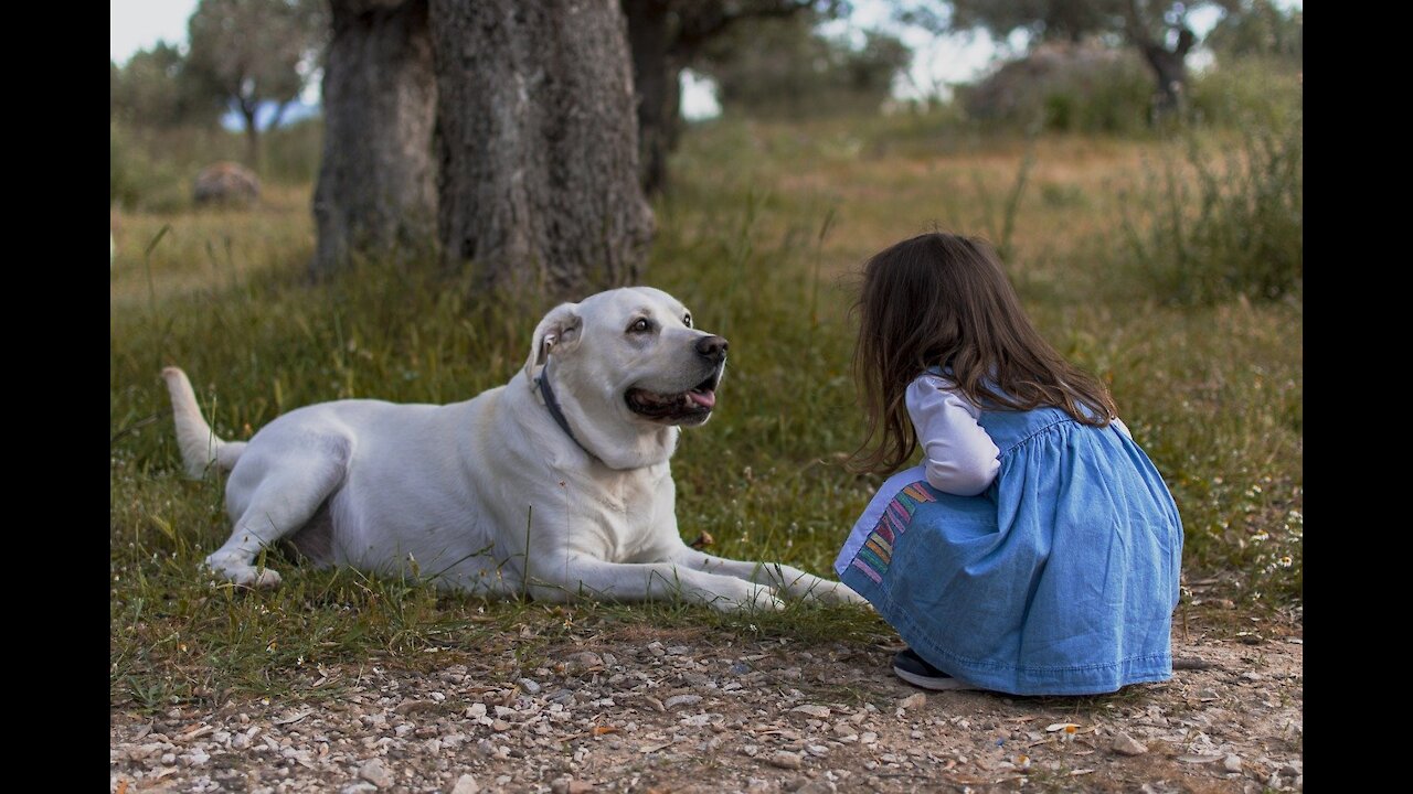
[[[314,191],[315,275],[350,256],[435,246],[437,85],[427,0],[333,0],[324,66],[324,158]]]

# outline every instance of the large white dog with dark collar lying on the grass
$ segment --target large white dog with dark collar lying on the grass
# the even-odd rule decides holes
[[[681,425],[711,417],[725,365],[725,339],[634,287],[554,308],[523,374],[465,403],[321,403],[229,442],[187,376],[162,376],[187,472],[230,470],[235,531],[206,565],[240,585],[278,585],[256,558],[285,540],[321,567],[486,596],[865,603],[838,582],[682,543],[668,459]]]

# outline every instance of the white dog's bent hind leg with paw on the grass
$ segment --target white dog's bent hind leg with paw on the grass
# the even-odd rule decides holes
[[[312,519],[343,479],[343,456],[318,452],[287,454],[276,465],[261,468],[249,499],[240,500],[243,507],[235,504],[240,517],[230,540],[206,557],[206,565],[237,585],[277,586],[280,574],[257,568],[256,555]],[[236,475],[229,487],[242,489],[240,472]]]

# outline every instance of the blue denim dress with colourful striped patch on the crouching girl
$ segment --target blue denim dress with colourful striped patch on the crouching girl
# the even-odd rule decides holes
[[[1147,455],[1060,408],[982,411],[978,496],[883,483],[834,564],[918,656],[974,687],[1085,695],[1173,675],[1183,524]]]

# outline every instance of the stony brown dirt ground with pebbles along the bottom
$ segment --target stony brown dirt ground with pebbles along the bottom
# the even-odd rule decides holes
[[[1299,791],[1301,633],[1187,616],[1171,681],[1010,698],[923,692],[890,647],[617,626],[544,667],[510,643],[432,674],[317,667],[305,689],[341,688],[317,704],[113,711],[110,791]]]

